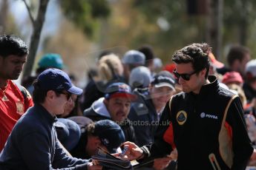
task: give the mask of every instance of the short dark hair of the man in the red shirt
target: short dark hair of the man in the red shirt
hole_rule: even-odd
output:
[[[27,44],[14,35],[0,35],[0,55],[4,58],[8,55],[28,55]]]

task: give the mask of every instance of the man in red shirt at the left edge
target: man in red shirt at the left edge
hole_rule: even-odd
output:
[[[19,78],[27,54],[22,39],[0,35],[0,152],[17,120],[33,106],[29,92],[12,81]]]

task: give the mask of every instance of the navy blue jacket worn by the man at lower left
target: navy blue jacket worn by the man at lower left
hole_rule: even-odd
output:
[[[0,154],[0,169],[87,169],[88,160],[70,157],[59,146],[55,122],[39,104],[28,109]]]

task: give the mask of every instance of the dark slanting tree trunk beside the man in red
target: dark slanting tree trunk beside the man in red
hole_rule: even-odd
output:
[[[39,2],[39,12],[37,14],[36,20],[33,22],[33,33],[30,38],[30,53],[27,57],[27,64],[24,67],[23,78],[30,75],[33,69],[33,63],[36,58],[36,52],[39,46],[40,35],[42,31],[43,24],[45,22],[45,13],[47,9],[47,4],[49,0],[40,0]]]

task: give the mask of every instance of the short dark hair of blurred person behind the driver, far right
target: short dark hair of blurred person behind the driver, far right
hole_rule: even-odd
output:
[[[247,47],[243,47],[240,45],[234,45],[229,50],[229,53],[226,57],[229,67],[232,66],[234,61],[239,60],[242,61],[246,54],[250,54],[250,50]]]

